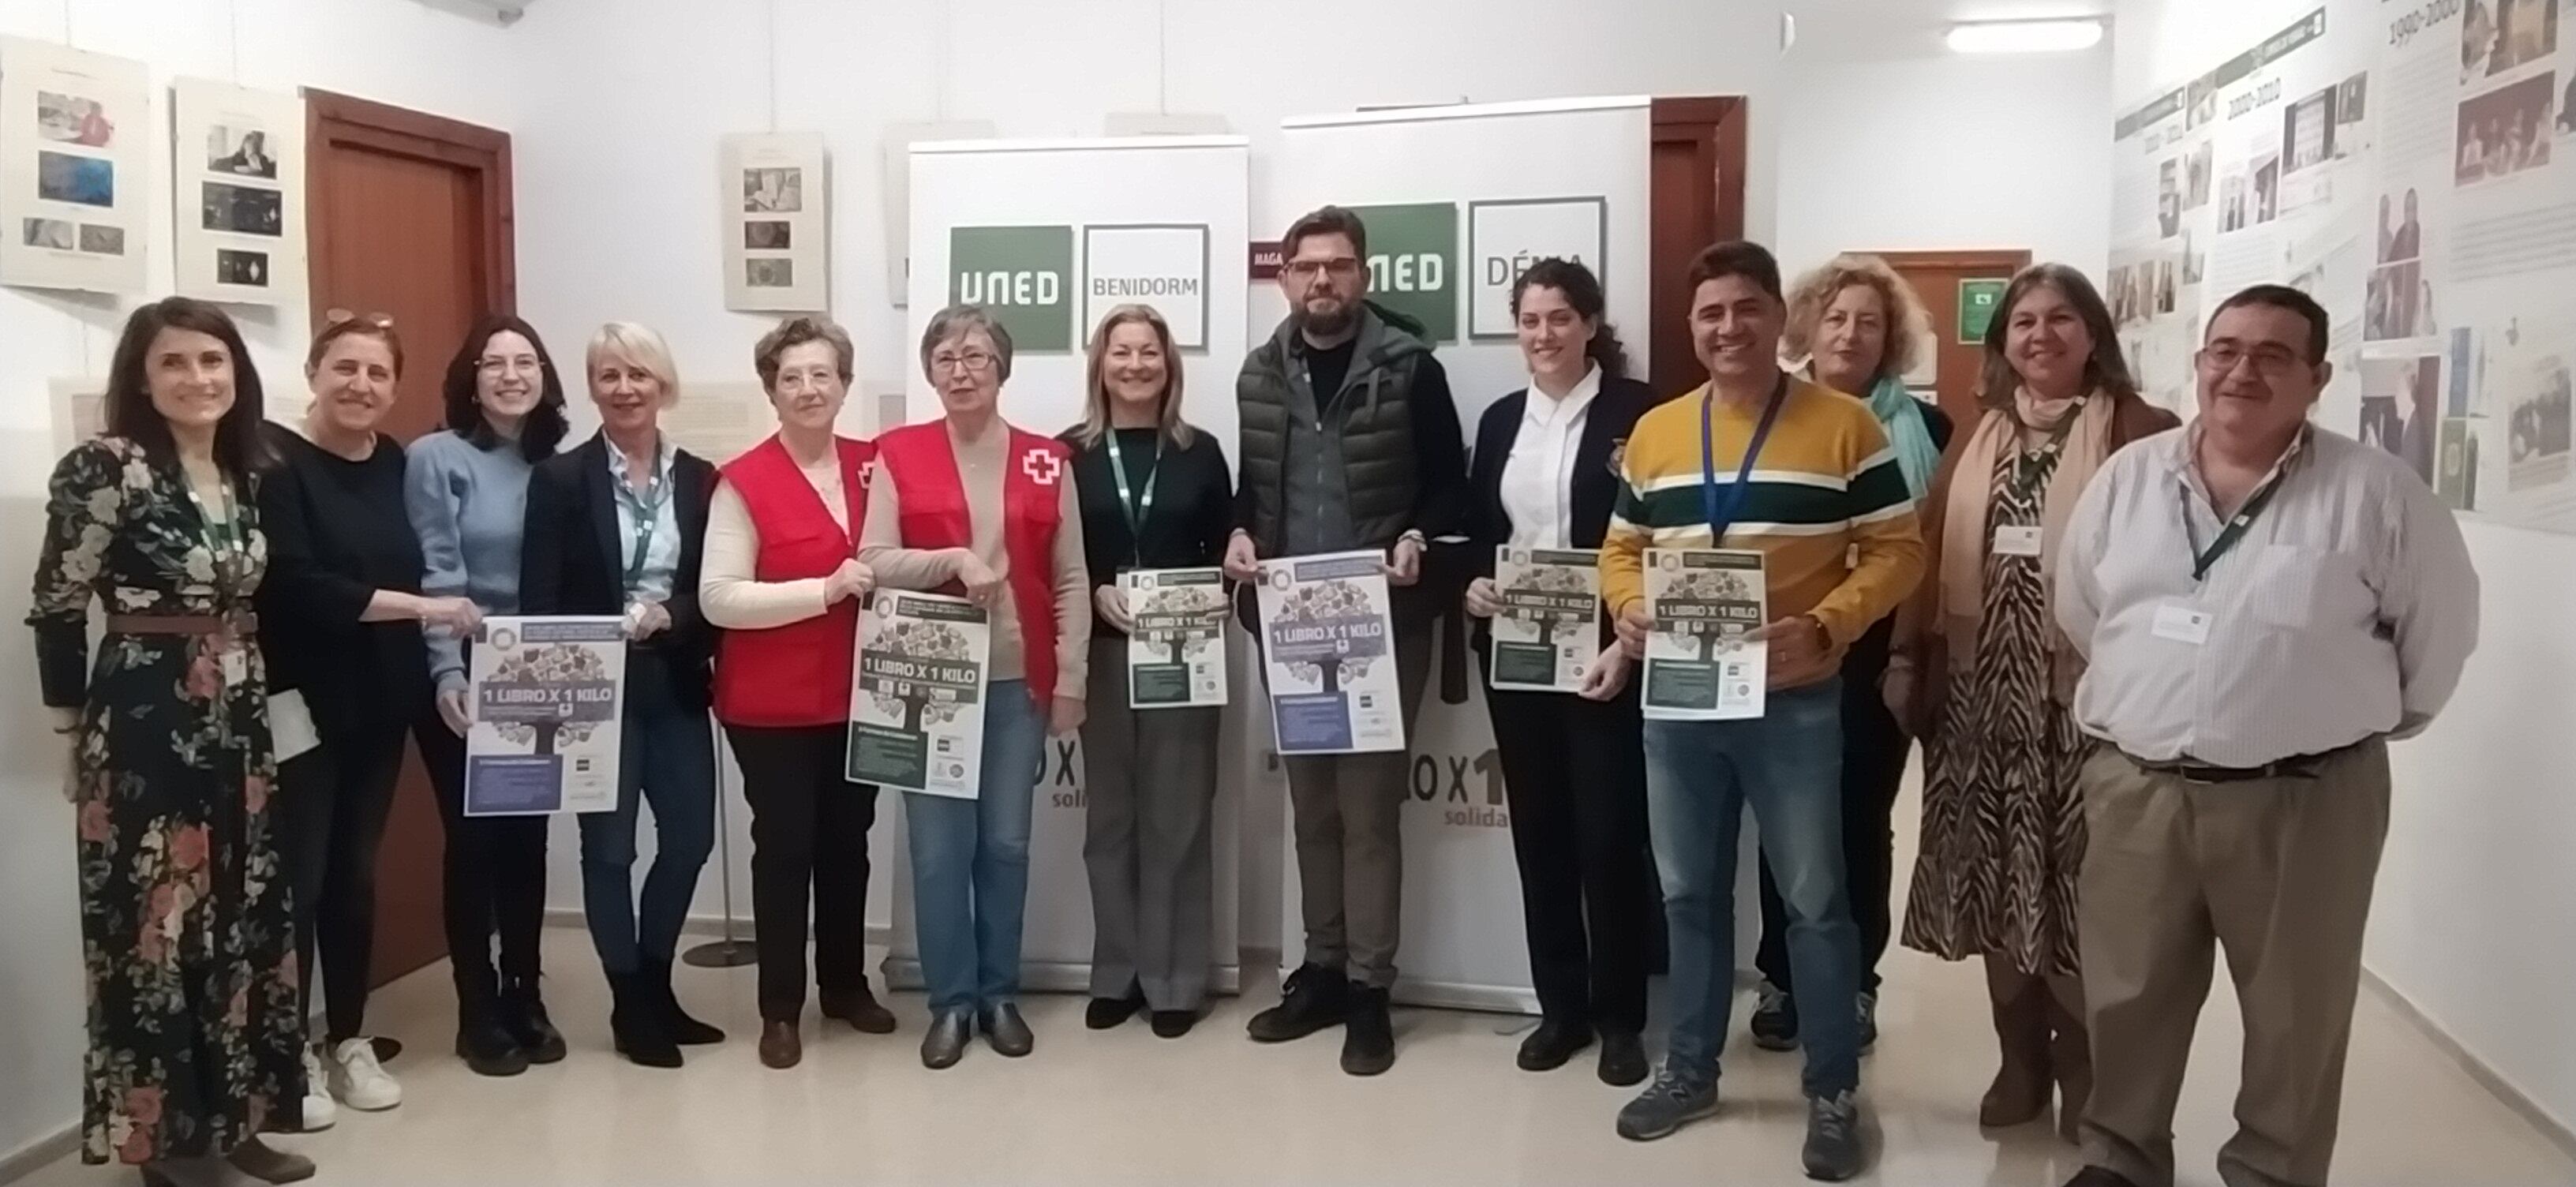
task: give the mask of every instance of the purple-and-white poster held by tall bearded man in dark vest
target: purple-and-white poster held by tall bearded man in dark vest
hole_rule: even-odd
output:
[[[1381,564],[1373,551],[1262,561],[1262,662],[1280,754],[1404,749]]]

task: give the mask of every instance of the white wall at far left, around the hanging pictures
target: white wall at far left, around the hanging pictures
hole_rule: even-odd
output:
[[[152,67],[152,288],[170,288],[170,111],[175,75],[252,88],[314,85],[479,124],[510,126],[515,106],[484,77],[510,77],[520,44],[492,26],[394,0],[0,0],[0,33],[118,54]],[[237,21],[237,23],[234,23]],[[232,28],[242,36],[234,44]],[[54,466],[49,376],[106,371],[134,301],[0,288],[0,1159],[77,1120],[82,986],[72,814],[59,744],[36,700],[26,574],[44,530]],[[304,312],[247,314],[242,330],[273,409],[301,409]]]

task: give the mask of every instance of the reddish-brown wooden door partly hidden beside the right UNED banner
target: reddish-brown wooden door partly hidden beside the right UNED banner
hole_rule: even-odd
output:
[[[1744,98],[1659,98],[1651,111],[1646,317],[1654,324],[1641,337],[1646,381],[1659,397],[1677,397],[1708,381],[1690,350],[1690,260],[1744,237]]]

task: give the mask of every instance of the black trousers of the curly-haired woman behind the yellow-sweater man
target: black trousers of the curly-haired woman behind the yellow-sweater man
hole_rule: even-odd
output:
[[[1896,726],[1878,677],[1888,669],[1888,641],[1896,618],[1880,618],[1842,657],[1842,870],[1852,899],[1852,924],[1860,927],[1860,989],[1878,991],[1878,958],[1888,955],[1888,896],[1896,875],[1896,790],[1906,780],[1906,749],[1914,739]],[[1780,986],[1788,971],[1788,909],[1762,863],[1762,948],[1754,968]]]

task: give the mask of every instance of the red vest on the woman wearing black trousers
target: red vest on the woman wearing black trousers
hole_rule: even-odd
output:
[[[850,530],[832,523],[814,484],[775,435],[724,466],[724,481],[742,494],[742,505],[752,510],[752,528],[760,530],[755,579],[832,577],[840,561],[858,556],[858,525],[868,512],[868,458],[876,448],[850,438],[835,443]],[[724,631],[716,646],[716,721],[768,729],[850,721],[858,597],[845,597],[801,623]]]

